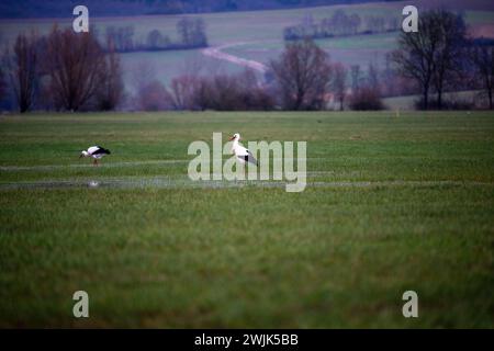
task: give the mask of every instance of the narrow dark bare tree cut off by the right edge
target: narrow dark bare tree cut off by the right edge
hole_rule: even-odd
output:
[[[476,45],[472,49],[472,63],[478,77],[482,80],[483,88],[487,93],[489,109],[493,109],[494,89],[494,47]]]

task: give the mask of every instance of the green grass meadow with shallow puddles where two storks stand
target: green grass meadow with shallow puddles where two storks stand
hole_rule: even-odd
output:
[[[190,181],[213,132],[306,140],[306,190]],[[1,116],[0,327],[492,328],[493,170],[487,112]]]

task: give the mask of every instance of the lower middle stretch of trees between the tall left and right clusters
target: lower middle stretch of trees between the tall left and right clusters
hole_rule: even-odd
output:
[[[269,64],[265,79],[251,70],[231,75],[186,73],[176,77],[167,88],[149,78],[137,83],[131,105],[144,111],[383,109],[379,84],[360,71],[355,79],[351,90],[349,70],[333,63],[325,50],[306,38],[288,43],[280,57]]]

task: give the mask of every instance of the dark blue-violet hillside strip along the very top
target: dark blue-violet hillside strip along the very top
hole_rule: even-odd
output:
[[[91,16],[115,16],[274,10],[359,2],[378,0],[2,0],[0,18],[66,18],[78,4],[87,5]]]

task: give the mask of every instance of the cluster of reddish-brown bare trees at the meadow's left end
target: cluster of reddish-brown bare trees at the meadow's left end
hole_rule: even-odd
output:
[[[55,26],[47,36],[20,34],[2,58],[19,111],[113,110],[123,95],[122,69],[111,41]]]

